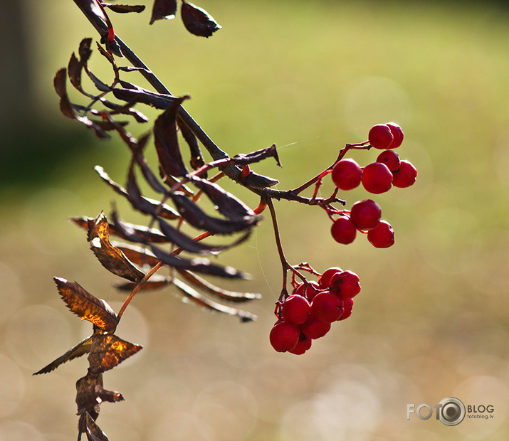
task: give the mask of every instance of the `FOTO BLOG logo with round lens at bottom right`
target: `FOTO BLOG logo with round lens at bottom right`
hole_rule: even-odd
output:
[[[458,425],[467,418],[481,418],[488,420],[493,418],[493,405],[467,405],[455,397],[448,397],[441,400],[439,404],[434,404],[436,420],[440,420],[445,425]],[[433,408],[429,404],[406,405],[406,419],[409,420],[412,413],[415,413],[421,420],[429,420],[433,415]]]

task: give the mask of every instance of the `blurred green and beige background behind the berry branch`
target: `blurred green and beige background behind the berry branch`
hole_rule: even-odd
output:
[[[131,2],[134,3],[134,2]],[[147,9],[152,2],[147,1]],[[90,333],[70,314],[52,277],[76,280],[118,309],[125,294],[66,220],[110,211],[115,195],[93,171],[125,181],[129,158],[58,110],[52,78],[97,38],[73,1],[21,1],[21,28],[4,14],[0,176],[0,440],[75,439],[80,358],[31,373]],[[360,275],[354,313],[303,356],[268,343],[280,268],[271,223],[221,262],[261,292],[258,322],[209,314],[171,290],[135,297],[117,334],[144,350],[105,373],[125,403],[105,403],[110,440],[506,440],[509,319],[509,14],[498,2],[201,0],[223,26],[208,40],[177,17],[111,13],[117,34],[219,146],[250,152],[278,188],[301,184],[372,124],[394,120],[399,154],[419,170],[407,189],[374,197],[397,243],[334,243],[318,208],[277,204],[288,260]],[[21,34],[26,39],[21,38]],[[24,42],[24,43],[23,43]],[[16,64],[16,53],[28,59]],[[23,68],[23,63],[26,68]],[[108,70],[97,51],[92,66]],[[5,78],[5,75],[6,78]],[[9,77],[10,75],[10,77]],[[132,81],[139,80],[136,73]],[[17,87],[16,84],[21,86]],[[147,114],[156,115],[150,110]],[[132,129],[136,133],[135,128]],[[145,128],[142,128],[145,130]],[[360,164],[377,152],[355,152]],[[234,186],[256,206],[256,198]],[[330,182],[322,188],[325,196]],[[344,195],[348,203],[361,190]],[[119,203],[129,221],[127,206]],[[267,215],[268,216],[268,215]],[[406,405],[455,396],[493,405],[490,420],[455,427],[406,419]]]

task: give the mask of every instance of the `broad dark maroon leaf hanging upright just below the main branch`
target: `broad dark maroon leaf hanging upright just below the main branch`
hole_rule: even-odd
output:
[[[167,176],[186,176],[187,169],[180,154],[177,138],[177,109],[185,97],[179,98],[154,123],[154,144],[159,166]]]

